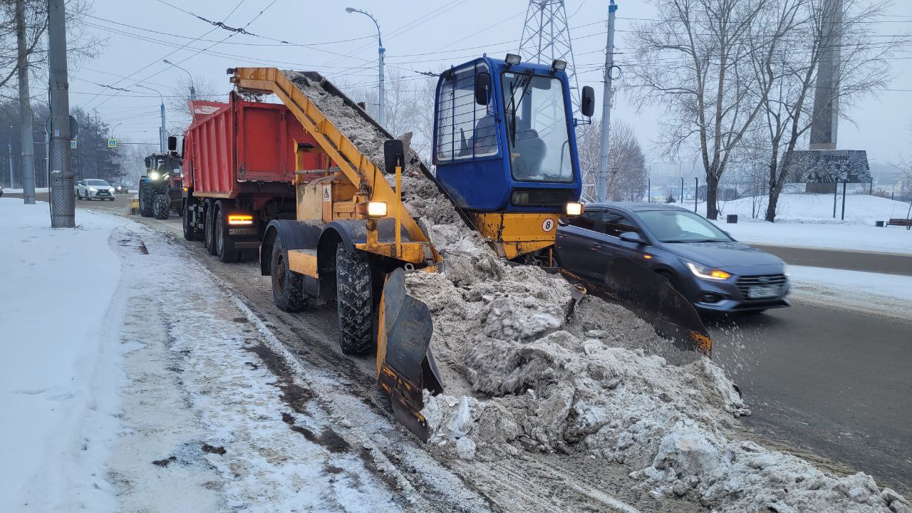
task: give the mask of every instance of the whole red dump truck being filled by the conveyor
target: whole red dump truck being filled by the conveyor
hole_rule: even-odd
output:
[[[266,225],[295,218],[295,170],[327,169],[281,103],[191,100],[183,140],[183,236],[223,262],[255,257]]]

